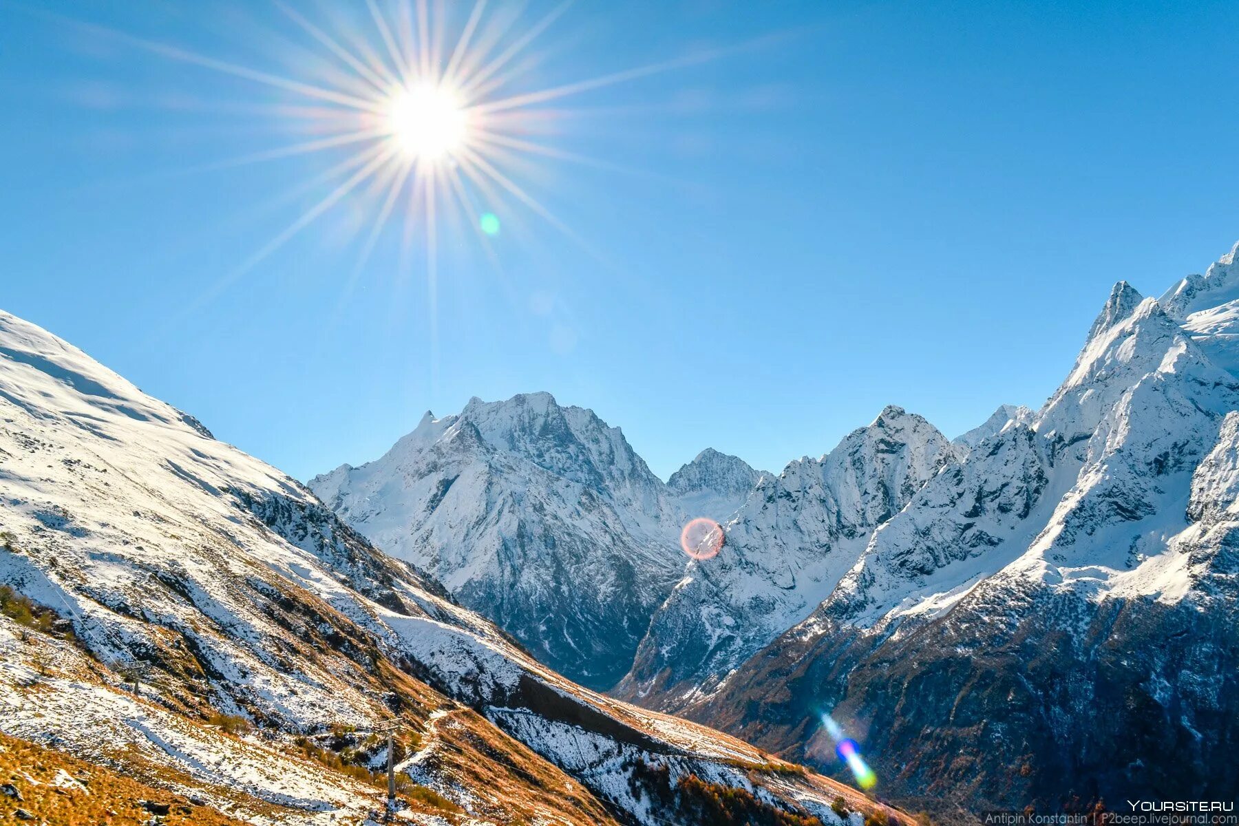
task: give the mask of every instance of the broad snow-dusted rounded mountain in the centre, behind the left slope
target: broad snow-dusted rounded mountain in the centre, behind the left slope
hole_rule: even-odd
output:
[[[382,458],[310,488],[548,665],[620,679],[684,566],[679,513],[617,427],[546,393],[426,414]]]

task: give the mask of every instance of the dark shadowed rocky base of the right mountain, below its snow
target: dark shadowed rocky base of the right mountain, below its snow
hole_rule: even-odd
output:
[[[1222,800],[1239,788],[1233,597],[1212,611],[992,598],[1032,609],[996,629],[996,606],[981,602],[876,648],[847,632],[772,646],[747,682],[779,690],[729,692],[694,716],[838,773],[814,736],[829,711],[865,743],[882,794],[912,809]]]

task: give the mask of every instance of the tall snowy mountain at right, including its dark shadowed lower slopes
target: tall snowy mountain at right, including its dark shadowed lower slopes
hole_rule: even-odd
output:
[[[1232,261],[1170,311],[1115,285],[1031,421],[934,476],[689,712],[809,757],[834,708],[888,789],[974,809],[1237,788],[1239,380],[1227,333],[1191,323],[1239,287]]]

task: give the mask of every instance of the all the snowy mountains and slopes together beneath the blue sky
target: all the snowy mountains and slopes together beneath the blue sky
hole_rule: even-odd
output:
[[[425,824],[882,810],[783,762],[846,779],[828,713],[950,822],[1229,799],[1235,254],[1116,284],[1040,410],[667,483],[539,393],[305,487],[0,313],[0,733],[264,822],[363,821],[393,717]]]

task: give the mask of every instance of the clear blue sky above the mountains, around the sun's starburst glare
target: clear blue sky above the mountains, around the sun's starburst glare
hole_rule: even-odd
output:
[[[258,1],[35,5],[290,78],[332,59]],[[1157,295],[1239,238],[1239,4],[581,0],[513,92],[747,47],[559,102],[544,142],[602,165],[513,175],[584,243],[483,199],[502,271],[445,235],[434,347],[398,230],[346,290],[373,197],[213,289],[339,155],[201,167],[301,140],[273,108],[304,100],[31,7],[0,2],[0,306],[300,478],[527,390],[664,477],[706,446],[777,471],[892,402],[955,435],[1040,405],[1115,280]]]

